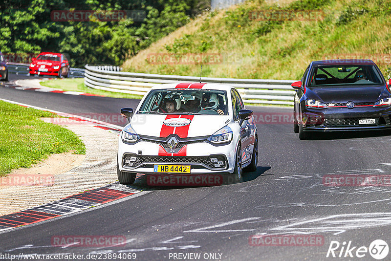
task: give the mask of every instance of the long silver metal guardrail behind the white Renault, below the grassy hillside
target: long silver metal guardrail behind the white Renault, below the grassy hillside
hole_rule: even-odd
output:
[[[144,95],[157,84],[199,82],[199,77],[123,72],[116,66],[85,66],[86,86],[113,92]],[[236,87],[245,103],[293,105],[293,80],[261,80],[202,77],[203,83]]]

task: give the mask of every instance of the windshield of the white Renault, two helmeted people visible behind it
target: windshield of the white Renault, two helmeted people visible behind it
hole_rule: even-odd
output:
[[[139,113],[227,115],[227,92],[208,89],[152,90]]]

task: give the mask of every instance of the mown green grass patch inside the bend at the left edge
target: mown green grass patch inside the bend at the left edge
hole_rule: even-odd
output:
[[[84,143],[75,133],[43,122],[41,117],[57,115],[0,101],[0,176],[13,169],[29,168],[49,154],[86,153]]]

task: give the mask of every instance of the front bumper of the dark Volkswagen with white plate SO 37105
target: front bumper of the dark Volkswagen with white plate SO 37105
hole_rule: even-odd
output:
[[[369,131],[391,129],[391,108],[360,107],[305,109],[304,131]],[[375,124],[359,124],[361,119],[375,119]]]

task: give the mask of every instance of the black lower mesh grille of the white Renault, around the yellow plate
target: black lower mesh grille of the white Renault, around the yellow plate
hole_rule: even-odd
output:
[[[136,156],[131,168],[153,168],[154,164],[178,164],[178,165],[191,165],[192,169],[207,168],[211,170],[223,170],[227,168],[227,160],[224,155],[210,155],[210,156],[157,156],[157,155],[135,155],[126,154],[124,158],[129,156]],[[217,158],[218,161],[222,161],[223,164],[216,167],[211,158]],[[123,162],[124,163],[124,162]],[[124,167],[130,168],[123,164]]]

